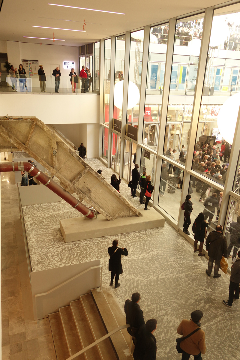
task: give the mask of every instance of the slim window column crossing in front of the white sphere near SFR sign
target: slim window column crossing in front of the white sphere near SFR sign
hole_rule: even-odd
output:
[[[128,77],[129,77],[129,62],[130,62],[130,41],[131,32],[126,32],[125,38],[125,55],[124,55],[124,80],[123,80],[123,108],[122,108],[122,136],[121,136],[121,152],[120,152],[120,171],[119,175],[123,177],[124,169],[124,136],[126,134],[126,121],[127,121],[127,94],[128,94]]]

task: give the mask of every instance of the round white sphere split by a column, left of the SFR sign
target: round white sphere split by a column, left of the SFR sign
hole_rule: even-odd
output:
[[[122,109],[123,102],[123,83],[124,81],[119,81],[114,85],[114,106],[118,109]],[[139,103],[140,93],[137,85],[132,81],[128,81],[128,96],[127,96],[127,109],[132,109]]]

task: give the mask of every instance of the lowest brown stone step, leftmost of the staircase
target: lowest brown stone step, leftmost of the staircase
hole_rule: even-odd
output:
[[[70,354],[68,351],[67,341],[62,327],[62,322],[59,312],[49,314],[49,322],[51,332],[53,334],[53,342],[56,351],[57,360],[66,360]]]

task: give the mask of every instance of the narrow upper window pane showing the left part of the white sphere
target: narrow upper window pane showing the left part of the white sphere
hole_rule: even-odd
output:
[[[126,35],[116,37],[113,118],[122,121]]]

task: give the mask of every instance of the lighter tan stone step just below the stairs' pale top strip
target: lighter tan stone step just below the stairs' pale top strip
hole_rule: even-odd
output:
[[[116,329],[118,327],[118,323],[114,318],[114,315],[104,296],[104,293],[102,291],[97,292],[96,289],[93,289],[91,290],[91,295],[94,299],[96,307],[98,308],[99,314],[105,328],[107,329],[107,332],[111,332],[112,330]],[[110,338],[119,360],[133,359],[131,354],[128,356],[124,354],[123,350],[126,350],[128,348],[129,343],[127,344],[121,331],[113,334]]]

